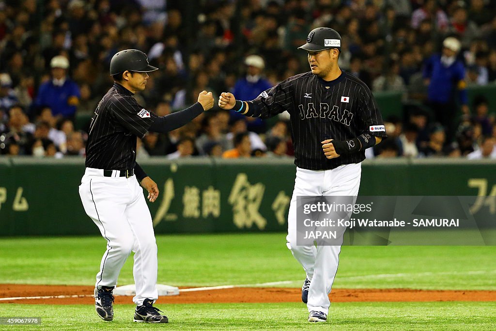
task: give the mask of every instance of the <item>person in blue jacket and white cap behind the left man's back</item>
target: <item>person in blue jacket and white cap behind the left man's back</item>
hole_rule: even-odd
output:
[[[50,67],[52,79],[41,84],[35,106],[50,107],[56,117],[73,118],[81,94],[77,84],[67,76],[69,61],[58,55],[50,61]]]

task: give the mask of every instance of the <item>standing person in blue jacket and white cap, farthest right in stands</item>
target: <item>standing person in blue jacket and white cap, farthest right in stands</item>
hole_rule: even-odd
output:
[[[435,120],[446,128],[447,141],[454,134],[456,114],[455,95],[460,99],[462,112],[469,113],[467,106],[467,91],[465,90],[465,68],[456,59],[460,51],[460,42],[453,37],[444,39],[442,54],[435,54],[426,62],[424,78],[429,85],[428,102],[434,111]]]

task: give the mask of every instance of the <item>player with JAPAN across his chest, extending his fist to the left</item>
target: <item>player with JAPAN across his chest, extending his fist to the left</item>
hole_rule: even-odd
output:
[[[386,136],[380,112],[367,85],[341,70],[341,36],[313,29],[299,49],[308,52],[310,71],[290,77],[251,101],[222,93],[219,107],[251,117],[291,115],[295,188],[289,208],[287,246],[305,269],[302,300],[309,322],[325,322],[341,246],[297,246],[298,196],[357,196],[365,149]]]

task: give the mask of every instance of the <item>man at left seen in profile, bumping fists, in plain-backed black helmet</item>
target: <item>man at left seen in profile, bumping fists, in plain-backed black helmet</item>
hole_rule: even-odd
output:
[[[114,86],[98,104],[91,119],[86,146],[86,170],[79,186],[84,210],[107,240],[100,271],[96,276],[95,309],[105,321],[114,318],[112,291],[127,257],[133,251],[136,284],[134,322],[167,323],[153,307],[157,293],[157,245],[152,218],[143,191],[154,202],[157,184],[136,163],[136,137],[147,131],[169,132],[182,127],[213,107],[211,92],[203,91],[191,107],[159,117],[133,98],[145,89],[150,66],[138,50],[124,50],[110,63]]]

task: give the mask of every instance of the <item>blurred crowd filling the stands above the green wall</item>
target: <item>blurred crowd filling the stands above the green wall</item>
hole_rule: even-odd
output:
[[[368,158],[496,158],[495,105],[466,91],[496,82],[496,1],[190,2],[0,0],[0,155],[84,157],[88,125],[75,119],[89,119],[112,86],[119,50],[142,50],[159,67],[135,97],[164,116],[202,90],[251,100],[308,71],[297,47],[327,26],[341,33],[342,69],[374,93],[403,95],[403,112],[384,119],[389,138]],[[215,107],[169,134],[148,132],[137,158],[289,158],[288,116]]]

